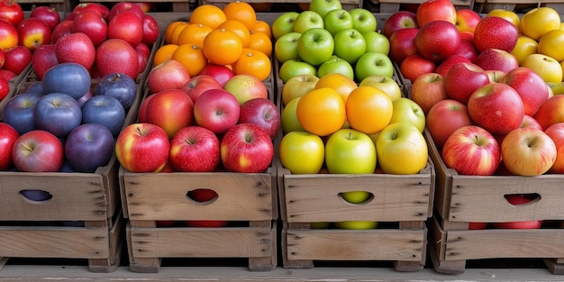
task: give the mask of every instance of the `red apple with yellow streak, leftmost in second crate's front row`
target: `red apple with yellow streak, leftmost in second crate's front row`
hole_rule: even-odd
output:
[[[115,155],[131,172],[159,172],[168,160],[170,143],[159,125],[132,123],[123,128],[115,141]]]

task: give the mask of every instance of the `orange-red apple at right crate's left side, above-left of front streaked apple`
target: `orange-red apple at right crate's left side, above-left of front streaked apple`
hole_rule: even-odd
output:
[[[473,123],[468,114],[468,107],[451,99],[437,102],[425,118],[425,126],[439,150],[452,132],[471,124]]]

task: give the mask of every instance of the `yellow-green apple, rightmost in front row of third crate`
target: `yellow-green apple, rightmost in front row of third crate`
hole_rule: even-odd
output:
[[[376,150],[378,165],[388,174],[417,174],[429,157],[423,134],[407,122],[388,124],[378,134]]]

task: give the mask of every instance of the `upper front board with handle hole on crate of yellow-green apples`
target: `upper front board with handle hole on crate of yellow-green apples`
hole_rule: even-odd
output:
[[[425,221],[431,216],[430,174],[285,174],[283,177],[288,223]],[[374,197],[368,203],[354,205],[339,196],[350,191],[368,191]]]

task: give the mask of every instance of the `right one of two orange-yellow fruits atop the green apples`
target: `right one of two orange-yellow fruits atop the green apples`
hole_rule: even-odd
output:
[[[350,128],[374,134],[390,123],[394,105],[377,87],[359,86],[350,92],[345,107]]]

